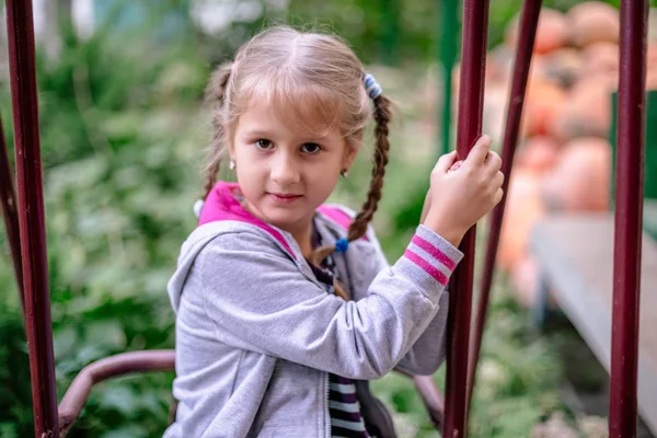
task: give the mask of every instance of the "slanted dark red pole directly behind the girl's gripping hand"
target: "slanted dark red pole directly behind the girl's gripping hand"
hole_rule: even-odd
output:
[[[531,66],[533,45],[539,24],[539,14],[541,12],[542,0],[527,0],[522,8],[520,19],[520,30],[518,37],[518,47],[516,48],[516,61],[514,66],[514,81],[511,83],[511,94],[507,106],[507,120],[504,134],[504,146],[502,149],[502,172],[505,175],[503,184],[504,196],[502,201],[493,210],[491,219],[491,230],[488,234],[488,244],[486,247],[486,260],[482,274],[480,299],[477,302],[477,312],[474,323],[474,334],[470,349],[470,361],[468,364],[468,401],[472,400],[474,379],[476,376],[476,365],[479,362],[482,337],[486,323],[486,312],[488,311],[488,298],[493,285],[493,274],[495,270],[495,257],[497,246],[499,245],[499,233],[504,210],[506,206],[507,191],[511,178],[511,168],[516,146],[518,143],[518,134],[520,131],[520,118],[522,116],[522,106],[525,104],[525,91],[527,89],[527,79]]]

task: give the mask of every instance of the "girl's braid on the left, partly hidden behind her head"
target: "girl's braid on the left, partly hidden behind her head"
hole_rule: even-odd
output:
[[[206,185],[204,199],[207,198],[210,191],[215,186],[215,178],[221,165],[221,152],[223,151],[226,132],[223,130],[226,122],[226,90],[230,74],[232,72],[232,62],[221,65],[210,78],[210,82],[206,89],[207,99],[214,102],[212,112],[212,145],[210,147],[210,162],[206,168]]]

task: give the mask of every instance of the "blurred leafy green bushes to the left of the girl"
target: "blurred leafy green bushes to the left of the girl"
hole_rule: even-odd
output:
[[[192,204],[206,119],[197,117],[209,66],[181,42],[104,32],[72,36],[55,60],[38,56],[39,116],[51,313],[59,396],[89,362],[173,347],[165,293]],[[8,112],[9,87],[0,88]],[[12,131],[4,117],[8,140]],[[4,246],[4,235],[0,234]],[[9,258],[5,258],[9,261]],[[11,265],[0,265],[12,285]],[[0,436],[32,433],[30,374],[13,287],[0,291]],[[94,388],[71,437],[157,437],[172,373]]]

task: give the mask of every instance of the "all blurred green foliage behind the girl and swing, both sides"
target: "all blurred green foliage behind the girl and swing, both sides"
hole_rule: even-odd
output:
[[[437,47],[437,4],[292,0],[286,14],[268,14],[267,8],[264,14],[268,22],[328,25],[366,61],[399,57],[422,64],[433,60]],[[545,4],[567,8],[557,0]],[[492,44],[499,41],[519,5],[519,0],[491,2]],[[140,26],[120,32],[101,28],[85,42],[66,32],[56,59],[39,54],[59,397],[93,360],[126,350],[173,347],[174,315],[165,286],[180,245],[194,227],[192,204],[203,186],[200,170],[210,137],[200,97],[210,66],[230,56],[261,26],[261,20],[234,23],[214,38],[188,23],[175,38]],[[382,82],[397,83],[387,92],[406,102],[417,76],[408,68],[402,73],[394,80],[377,76]],[[11,146],[8,90],[2,83],[0,108]],[[390,260],[401,255],[417,223],[437,154],[434,140],[418,134],[416,119],[423,115],[418,110],[411,114],[413,107],[424,106],[414,102],[402,112],[407,125],[395,129],[384,198],[376,218]],[[369,161],[367,153],[360,154],[359,165],[339,186],[338,200],[357,208],[365,199]],[[0,246],[7,249],[3,231],[0,228]],[[9,285],[0,290],[0,436],[24,437],[32,435],[30,373],[10,263],[0,264],[0,284]],[[526,315],[502,285],[494,292],[484,341],[471,415],[473,437],[528,436],[533,424],[562,408],[555,389],[562,370],[552,342],[525,334]],[[97,385],[70,436],[161,436],[172,378],[172,373],[140,374]],[[442,374],[437,379],[441,381]],[[374,387],[394,408],[397,427],[407,431],[404,436],[436,436],[405,378],[391,376]]]

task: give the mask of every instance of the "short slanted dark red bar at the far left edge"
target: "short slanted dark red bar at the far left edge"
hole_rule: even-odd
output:
[[[19,286],[19,296],[23,314],[25,314],[25,297],[23,293],[23,267],[21,263],[21,235],[19,231],[19,214],[16,211],[16,194],[13,189],[13,172],[9,163],[9,153],[2,129],[2,117],[0,117],[0,205],[7,229],[7,239],[11,249],[11,258],[14,265],[14,274]]]

